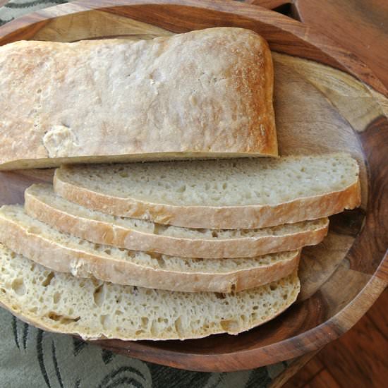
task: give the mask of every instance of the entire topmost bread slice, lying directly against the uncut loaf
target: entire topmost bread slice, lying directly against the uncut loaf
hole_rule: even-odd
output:
[[[348,154],[61,166],[54,190],[99,212],[206,229],[291,224],[360,205]]]

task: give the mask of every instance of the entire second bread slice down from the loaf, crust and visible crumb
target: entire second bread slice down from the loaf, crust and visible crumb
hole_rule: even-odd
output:
[[[51,185],[25,190],[25,212],[45,224],[93,243],[180,257],[255,257],[320,243],[329,220],[317,219],[265,229],[188,229],[114,217],[56,195]]]

